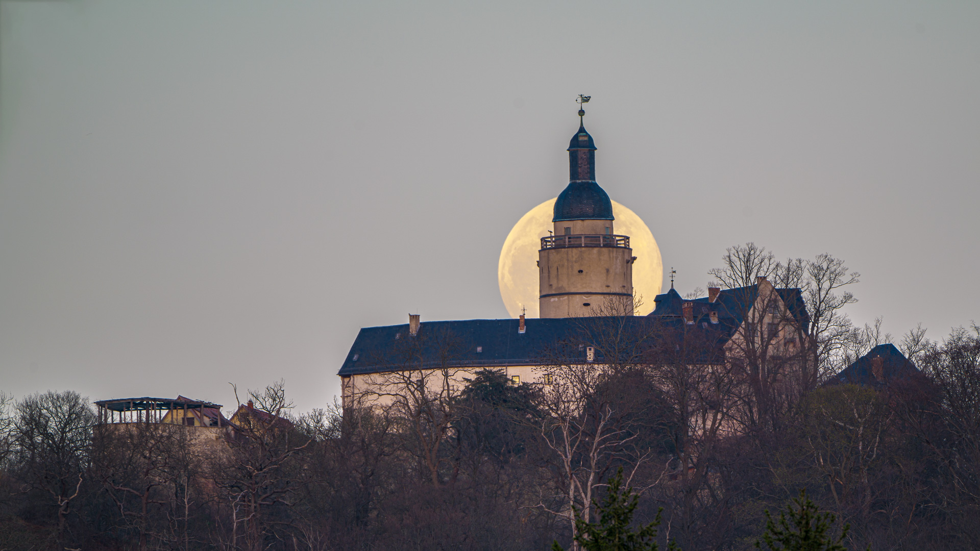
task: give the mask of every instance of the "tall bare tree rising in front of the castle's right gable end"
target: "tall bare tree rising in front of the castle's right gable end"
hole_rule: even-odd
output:
[[[737,293],[727,308],[745,322],[734,346],[752,384],[747,419],[752,426],[771,425],[841,368],[842,355],[856,334],[842,309],[857,302],[841,288],[857,283],[859,275],[826,253],[813,260],[777,262],[751,242],[727,249],[722,263],[709,275]],[[760,281],[769,280],[775,292],[762,294]]]

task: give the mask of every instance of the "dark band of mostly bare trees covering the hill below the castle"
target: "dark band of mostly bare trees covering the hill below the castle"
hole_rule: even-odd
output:
[[[840,314],[857,275],[754,246],[726,263],[729,288],[803,289],[796,346],[761,322],[719,347],[700,325],[637,332],[610,311],[546,351],[545,384],[466,374],[453,335],[421,331],[345,407],[293,415],[273,383],[232,429],[96,425],[73,392],[5,400],[0,549],[577,549],[619,472],[662,548],[754,549],[802,489],[850,549],[980,548],[980,327],[910,331],[919,372],[831,384],[890,340]],[[564,361],[585,346],[601,362]],[[433,349],[442,365],[417,369]]]

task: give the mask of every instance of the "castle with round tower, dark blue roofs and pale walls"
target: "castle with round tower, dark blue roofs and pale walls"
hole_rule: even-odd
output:
[[[780,354],[800,350],[809,325],[800,289],[776,289],[764,277],[748,287],[711,288],[695,300],[682,299],[671,285],[657,296],[654,312],[633,315],[637,257],[629,236],[615,233],[583,116],[579,110],[568,145],[569,181],[555,202],[554,231],[541,238],[538,251],[540,318],[422,323],[410,315],[407,325],[364,327],[337,374],[345,406],[451,394],[481,369],[501,371],[514,383],[551,384],[548,366],[613,361],[589,334],[604,319],[652,347],[694,335],[711,349],[700,357],[712,363],[756,344]]]

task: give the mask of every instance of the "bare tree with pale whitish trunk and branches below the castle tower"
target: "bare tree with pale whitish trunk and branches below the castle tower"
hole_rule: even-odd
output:
[[[654,413],[644,367],[658,325],[631,319],[631,308],[607,302],[541,358],[539,371],[548,382],[537,404],[540,416],[527,421],[537,426],[553,481],[542,486],[537,507],[564,518],[572,538],[575,511],[591,519],[593,499],[611,470],[628,465],[631,478],[654,454],[643,437]]]

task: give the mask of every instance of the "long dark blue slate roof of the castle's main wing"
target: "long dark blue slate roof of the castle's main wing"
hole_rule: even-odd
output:
[[[646,316],[622,318],[533,318],[525,321],[525,331],[517,332],[517,320],[459,320],[450,322],[422,322],[418,329],[421,350],[414,351],[412,361],[405,353],[409,325],[364,327],[358,333],[347,358],[337,375],[352,376],[398,371],[401,369],[431,369],[442,367],[480,368],[542,365],[542,359],[563,354],[565,361],[586,360],[586,350],[568,346],[570,341],[587,338],[589,330],[596,330],[606,321],[623,323],[624,331],[634,334],[650,334],[658,326],[678,327],[679,320],[663,320]],[[689,329],[706,332],[714,338],[717,325],[688,326]],[[440,359],[439,337],[452,335],[453,352],[449,360]],[[627,333],[628,334],[628,333]],[[666,333],[663,333],[666,334]],[[477,347],[479,352],[477,352]],[[596,350],[596,361],[602,361],[601,350]],[[410,368],[411,366],[411,368]]]

